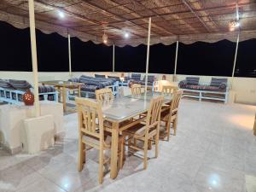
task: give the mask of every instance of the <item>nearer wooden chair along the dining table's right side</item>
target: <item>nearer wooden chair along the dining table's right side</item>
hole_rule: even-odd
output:
[[[148,109],[146,124],[140,123],[131,126],[127,131],[123,131],[123,143],[125,143],[125,137],[128,136],[129,148],[135,151],[143,151],[143,168],[148,166],[148,144],[153,141],[155,143],[155,157],[159,154],[159,134],[160,134],[160,110],[164,97],[159,96],[154,98],[150,102],[150,108]],[[133,140],[133,143],[131,143]],[[143,141],[143,148],[137,146],[137,140]],[[125,144],[123,144],[123,147]]]

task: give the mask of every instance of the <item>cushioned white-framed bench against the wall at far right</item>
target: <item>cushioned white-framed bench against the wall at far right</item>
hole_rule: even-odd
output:
[[[227,82],[227,79],[212,78],[210,84],[199,84],[199,78],[187,77],[178,86],[183,90],[183,96],[226,103],[229,90]]]

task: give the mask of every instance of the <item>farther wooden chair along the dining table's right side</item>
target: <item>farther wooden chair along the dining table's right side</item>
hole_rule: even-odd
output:
[[[177,110],[178,110],[178,105],[182,95],[183,95],[183,90],[174,91],[170,107],[162,108],[161,110],[160,120],[166,122],[167,141],[169,141],[170,139],[171,124],[173,125],[173,130],[174,130],[173,135],[176,136]]]

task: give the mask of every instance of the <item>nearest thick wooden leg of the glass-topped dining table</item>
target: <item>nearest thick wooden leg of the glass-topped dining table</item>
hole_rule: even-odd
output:
[[[110,177],[115,178],[118,174],[118,148],[119,148],[119,123],[112,124],[112,142],[111,142],[111,165]]]

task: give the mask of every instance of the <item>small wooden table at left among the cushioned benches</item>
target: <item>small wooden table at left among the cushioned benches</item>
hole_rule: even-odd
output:
[[[78,82],[60,81],[60,80],[42,81],[40,83],[55,86],[57,90],[60,90],[60,93],[62,95],[64,112],[67,111],[67,90],[78,90],[78,96],[81,96],[81,86],[83,85],[82,83],[78,83]]]

